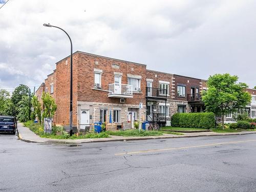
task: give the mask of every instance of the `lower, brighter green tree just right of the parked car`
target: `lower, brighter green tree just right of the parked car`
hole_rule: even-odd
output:
[[[24,95],[22,100],[18,102],[18,115],[17,119],[21,122],[29,120],[29,96]]]

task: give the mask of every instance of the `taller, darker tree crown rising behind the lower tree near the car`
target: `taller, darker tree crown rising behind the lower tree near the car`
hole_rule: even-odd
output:
[[[15,116],[17,116],[19,108],[18,102],[22,100],[23,96],[29,95],[29,90],[26,86],[18,86],[12,93],[11,100],[15,106]],[[29,98],[28,98],[29,99]]]

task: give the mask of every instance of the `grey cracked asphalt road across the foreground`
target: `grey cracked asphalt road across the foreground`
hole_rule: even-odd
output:
[[[256,134],[37,144],[0,134],[0,191],[256,191]]]

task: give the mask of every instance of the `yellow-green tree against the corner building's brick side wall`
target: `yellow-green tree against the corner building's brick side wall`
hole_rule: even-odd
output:
[[[44,105],[42,118],[53,117],[57,110],[57,105],[49,93],[42,93],[42,104]]]

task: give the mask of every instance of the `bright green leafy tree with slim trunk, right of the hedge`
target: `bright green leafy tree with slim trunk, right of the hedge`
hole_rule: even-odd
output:
[[[202,100],[207,112],[213,112],[222,118],[224,129],[224,116],[244,108],[251,99],[246,83],[237,82],[238,76],[230,74],[215,74],[207,80],[208,90],[203,93]]]

